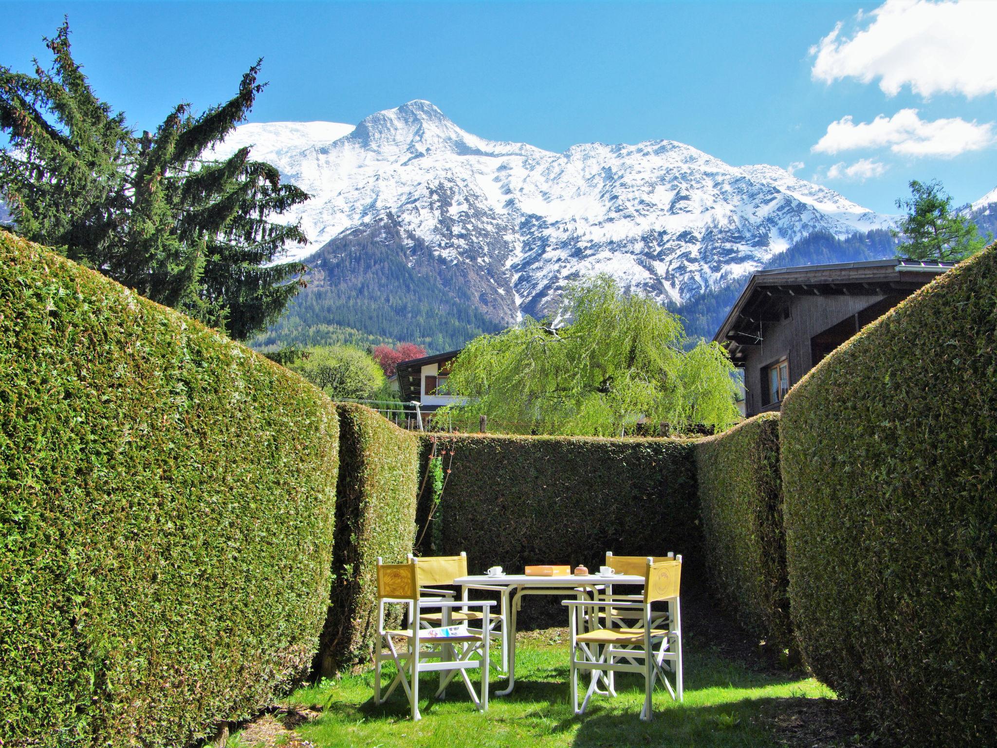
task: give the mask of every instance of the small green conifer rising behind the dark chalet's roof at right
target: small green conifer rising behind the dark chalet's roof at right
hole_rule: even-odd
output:
[[[913,180],[909,187],[911,196],[896,201],[907,211],[894,231],[906,239],[896,247],[896,256],[958,262],[983,248],[986,242],[976,225],[952,209],[952,197],[940,182]]]

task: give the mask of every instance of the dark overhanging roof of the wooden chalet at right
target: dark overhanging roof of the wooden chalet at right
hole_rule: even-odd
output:
[[[748,281],[713,339],[732,356],[758,342],[763,322],[781,321],[788,299],[802,295],[911,293],[952,267],[950,262],[875,259],[759,270]]]

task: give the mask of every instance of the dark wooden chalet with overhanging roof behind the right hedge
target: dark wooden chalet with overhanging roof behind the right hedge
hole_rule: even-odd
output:
[[[744,370],[745,415],[779,410],[832,350],[951,266],[880,259],[756,272],[713,338]]]

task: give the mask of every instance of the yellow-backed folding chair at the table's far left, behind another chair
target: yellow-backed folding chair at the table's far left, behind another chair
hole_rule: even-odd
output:
[[[437,599],[453,599],[456,590],[440,589],[432,585],[456,586],[454,579],[459,576],[468,575],[468,555],[461,552],[460,556],[423,556],[415,557],[409,554],[409,562],[416,564],[416,576],[419,579],[419,592],[422,595],[423,604],[432,606]],[[464,587],[462,599],[468,599],[468,590],[479,589],[498,592],[498,615],[489,616],[490,625],[482,628],[484,613],[479,610],[469,610],[466,607],[461,609],[444,609],[440,612],[424,613],[422,615],[422,625],[426,628],[432,626],[446,626],[451,623],[468,623],[469,629],[475,632],[488,630],[489,635],[502,641],[502,633],[505,630],[505,595],[502,594],[504,587],[489,584],[468,584]],[[505,647],[501,647],[501,659],[498,663],[493,662],[499,674],[508,672],[508,653]]]

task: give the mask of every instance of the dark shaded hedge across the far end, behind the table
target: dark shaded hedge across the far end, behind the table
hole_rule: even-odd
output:
[[[497,563],[598,568],[606,551],[674,551],[691,564],[683,583],[695,583],[702,552],[693,442],[468,435],[450,443],[443,551],[466,551],[473,573]]]

